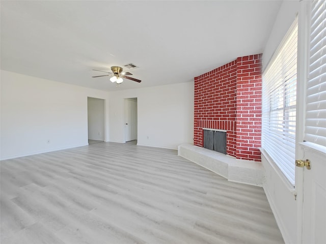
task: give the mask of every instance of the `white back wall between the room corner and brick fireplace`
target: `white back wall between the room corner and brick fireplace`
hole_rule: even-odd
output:
[[[193,143],[194,83],[111,92],[110,141],[124,142],[124,99],[138,101],[138,145],[177,149]]]

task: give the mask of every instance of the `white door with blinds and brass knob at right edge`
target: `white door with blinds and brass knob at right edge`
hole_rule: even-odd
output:
[[[300,42],[303,45],[298,46],[298,53],[301,52],[302,54],[301,63],[303,67],[300,70],[304,82],[299,89],[306,90],[306,94],[302,95],[304,95],[305,107],[308,112],[305,119],[304,116],[301,116],[298,120],[301,122],[299,124],[309,126],[299,128],[299,132],[305,131],[308,141],[316,139],[319,143],[321,143],[321,140],[317,138],[325,136],[325,14],[326,2],[301,1],[301,19],[303,22]],[[310,45],[305,45],[305,42],[307,42],[306,44],[310,43]],[[309,71],[304,67],[310,67]],[[309,77],[307,81],[305,77]],[[305,86],[307,87],[304,88]],[[303,115],[302,113],[305,113],[306,109],[298,108],[297,112]],[[304,123],[304,120],[306,120],[306,123]],[[303,138],[301,138],[301,141],[303,141]],[[324,146],[311,142],[298,143],[297,148],[297,159],[308,159],[311,164],[310,170],[304,167],[295,172],[298,171],[298,176],[300,176],[298,177],[300,180],[298,182],[297,196],[300,196],[298,224],[301,228],[298,228],[298,238],[301,239],[301,243],[324,244],[326,243],[326,149]],[[295,180],[297,180],[297,177]],[[297,181],[295,182],[297,187],[296,183]]]

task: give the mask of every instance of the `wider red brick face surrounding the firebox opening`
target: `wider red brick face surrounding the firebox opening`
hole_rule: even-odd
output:
[[[227,154],[236,156],[236,60],[195,77],[195,139],[203,146],[203,129],[227,130]]]

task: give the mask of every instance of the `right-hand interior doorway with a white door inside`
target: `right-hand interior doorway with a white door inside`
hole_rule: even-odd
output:
[[[124,100],[124,141],[137,141],[137,98]]]

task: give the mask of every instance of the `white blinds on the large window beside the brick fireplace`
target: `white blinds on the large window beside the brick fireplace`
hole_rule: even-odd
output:
[[[297,19],[263,73],[262,148],[294,185]]]

